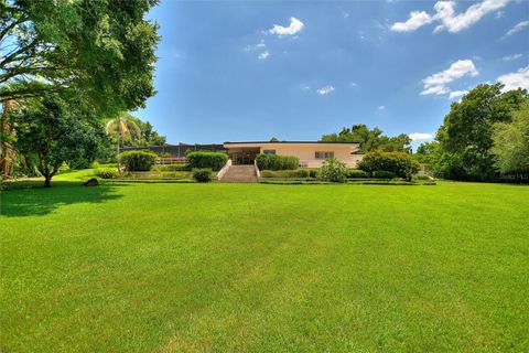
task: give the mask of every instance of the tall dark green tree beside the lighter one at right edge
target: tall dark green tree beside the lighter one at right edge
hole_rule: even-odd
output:
[[[510,122],[512,113],[528,99],[527,90],[503,93],[503,85],[478,85],[450,113],[436,133],[444,153],[447,178],[462,180],[495,180],[497,169],[490,152],[493,126]]]

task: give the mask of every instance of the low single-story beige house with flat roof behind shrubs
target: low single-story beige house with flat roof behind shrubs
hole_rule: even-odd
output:
[[[294,156],[300,159],[300,167],[320,168],[327,158],[336,158],[355,168],[361,160],[358,154],[359,143],[319,142],[319,141],[252,141],[224,142],[224,149],[233,164],[252,164],[258,153]]]

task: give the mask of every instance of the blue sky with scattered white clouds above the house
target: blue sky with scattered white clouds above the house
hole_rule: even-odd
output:
[[[529,1],[162,1],[149,18],[158,95],[138,116],[170,143],[354,124],[428,138],[479,83],[529,88]]]

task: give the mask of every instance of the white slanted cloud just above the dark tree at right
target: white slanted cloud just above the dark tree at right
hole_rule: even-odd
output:
[[[424,78],[421,95],[447,94],[451,90],[446,87],[447,84],[464,76],[476,76],[478,72],[472,60],[458,60],[445,71]]]

